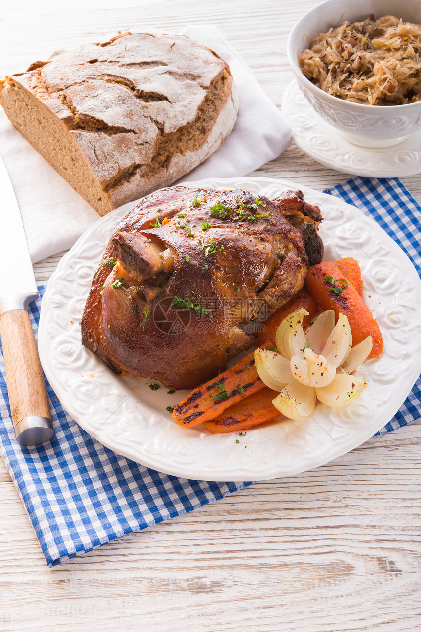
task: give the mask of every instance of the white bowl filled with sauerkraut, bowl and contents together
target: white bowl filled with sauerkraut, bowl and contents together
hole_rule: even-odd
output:
[[[357,145],[421,129],[421,0],[328,0],[306,13],[288,58],[306,99]]]

